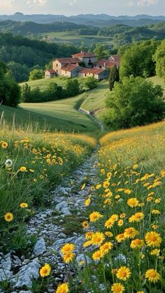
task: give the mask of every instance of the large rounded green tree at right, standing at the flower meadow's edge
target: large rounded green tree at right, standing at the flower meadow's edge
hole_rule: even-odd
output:
[[[135,127],[162,120],[165,116],[162,87],[141,77],[123,78],[108,94],[104,120],[113,129]]]

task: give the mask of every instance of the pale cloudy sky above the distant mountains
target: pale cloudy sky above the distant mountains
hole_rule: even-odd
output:
[[[0,0],[0,15],[13,14],[164,15],[165,0]]]

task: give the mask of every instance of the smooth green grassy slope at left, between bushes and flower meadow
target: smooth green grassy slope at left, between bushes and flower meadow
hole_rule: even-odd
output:
[[[81,102],[80,98],[82,97],[48,103],[22,103],[19,108],[1,106],[0,115],[3,112],[3,116],[10,122],[13,122],[15,115],[15,125],[20,127],[33,124],[33,127],[47,128],[50,131],[94,131],[98,125],[89,116],[76,110]]]

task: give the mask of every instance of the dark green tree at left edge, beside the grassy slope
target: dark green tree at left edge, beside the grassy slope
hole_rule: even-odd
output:
[[[11,107],[16,107],[20,102],[20,86],[11,78],[3,62],[0,62],[0,101]]]

